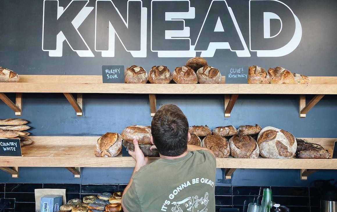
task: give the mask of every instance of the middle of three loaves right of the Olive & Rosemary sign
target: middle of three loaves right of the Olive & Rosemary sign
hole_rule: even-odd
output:
[[[270,84],[294,84],[295,79],[292,72],[282,67],[269,68],[268,74]]]

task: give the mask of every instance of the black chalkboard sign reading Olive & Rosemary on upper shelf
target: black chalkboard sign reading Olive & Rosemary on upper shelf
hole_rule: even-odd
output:
[[[248,66],[226,65],[224,75],[226,84],[247,84]]]

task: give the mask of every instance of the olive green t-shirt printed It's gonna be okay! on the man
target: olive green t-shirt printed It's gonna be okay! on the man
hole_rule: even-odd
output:
[[[158,159],[134,173],[123,205],[130,212],[214,212],[215,172],[207,150]]]

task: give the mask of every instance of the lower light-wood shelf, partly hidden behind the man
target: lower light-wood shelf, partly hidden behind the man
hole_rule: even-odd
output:
[[[29,136],[34,144],[22,147],[23,157],[0,156],[4,167],[134,167],[131,157],[95,157],[99,137]],[[336,138],[307,138],[332,154]],[[149,158],[155,161],[158,158]],[[231,169],[337,169],[337,159],[217,158],[217,168]]]

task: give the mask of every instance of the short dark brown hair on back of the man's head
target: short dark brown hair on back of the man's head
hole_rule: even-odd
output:
[[[188,121],[177,105],[165,104],[156,112],[151,133],[162,155],[175,157],[187,150]]]

